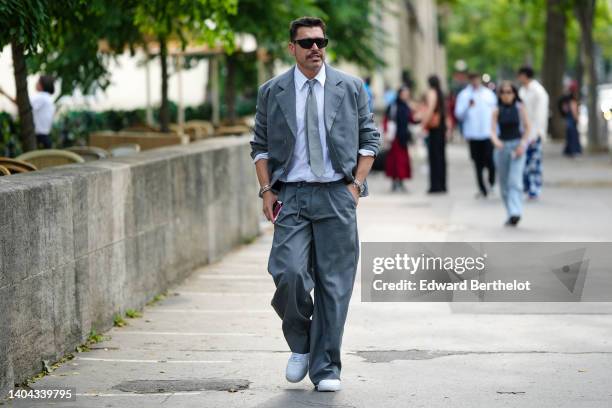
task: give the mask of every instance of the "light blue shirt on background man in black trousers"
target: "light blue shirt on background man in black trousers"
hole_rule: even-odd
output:
[[[470,100],[474,104],[470,106]],[[466,86],[457,96],[455,116],[461,121],[461,133],[468,140],[485,140],[491,137],[493,110],[497,98],[489,88],[479,85]]]

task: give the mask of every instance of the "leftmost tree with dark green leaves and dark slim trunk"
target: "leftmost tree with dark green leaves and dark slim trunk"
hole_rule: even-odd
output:
[[[123,48],[137,31],[125,19],[133,0],[7,0],[0,3],[0,48],[10,42],[13,54],[17,108],[23,149],[36,149],[28,72],[46,72],[61,78],[60,96],[75,88],[88,93],[109,83],[108,55],[99,52],[99,40]]]

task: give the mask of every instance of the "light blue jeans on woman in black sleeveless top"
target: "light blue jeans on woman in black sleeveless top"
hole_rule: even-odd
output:
[[[508,217],[520,217],[523,213],[523,171],[525,153],[513,158],[513,151],[520,139],[504,141],[504,147],[495,149],[494,159],[499,176],[499,190],[506,206]]]

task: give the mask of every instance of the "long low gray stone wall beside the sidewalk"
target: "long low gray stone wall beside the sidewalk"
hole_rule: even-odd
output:
[[[0,397],[259,233],[246,137],[0,177]]]

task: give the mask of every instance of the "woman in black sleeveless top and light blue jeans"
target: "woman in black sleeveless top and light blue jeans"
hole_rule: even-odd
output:
[[[508,214],[506,225],[516,226],[523,214],[523,171],[530,126],[512,83],[502,82],[498,96],[491,122],[491,141],[495,146],[499,190]]]

